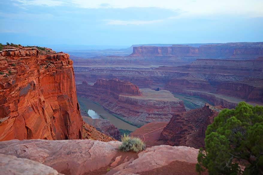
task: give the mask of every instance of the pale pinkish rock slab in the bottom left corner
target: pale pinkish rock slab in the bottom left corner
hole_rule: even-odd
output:
[[[3,175],[63,175],[42,163],[5,154],[0,154],[0,170]]]

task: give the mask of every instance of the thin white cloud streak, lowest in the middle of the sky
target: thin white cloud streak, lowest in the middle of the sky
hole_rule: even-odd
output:
[[[144,24],[154,24],[158,22],[163,22],[164,19],[150,20],[150,21],[136,21],[136,20],[114,20],[114,19],[106,19],[107,25],[144,25]]]

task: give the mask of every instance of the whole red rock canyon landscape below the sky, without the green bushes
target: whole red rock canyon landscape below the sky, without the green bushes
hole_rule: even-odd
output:
[[[4,45],[0,168],[7,174],[197,174],[198,149],[214,117],[239,101],[263,104],[262,48],[135,46],[129,56],[75,58],[73,70],[63,52]],[[89,115],[92,109],[98,118]],[[118,150],[120,129],[141,138],[145,149]]]

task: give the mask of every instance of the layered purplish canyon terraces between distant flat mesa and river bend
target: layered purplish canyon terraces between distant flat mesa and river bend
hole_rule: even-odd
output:
[[[263,57],[254,60],[197,59],[186,66],[158,68],[75,67],[76,81],[117,78],[139,88],[194,95],[233,108],[240,101],[262,105]]]

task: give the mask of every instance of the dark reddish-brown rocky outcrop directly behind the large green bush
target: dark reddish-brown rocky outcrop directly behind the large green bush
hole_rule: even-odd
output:
[[[204,147],[205,130],[220,109],[206,104],[181,115],[174,115],[161,133],[160,139],[173,146]]]

